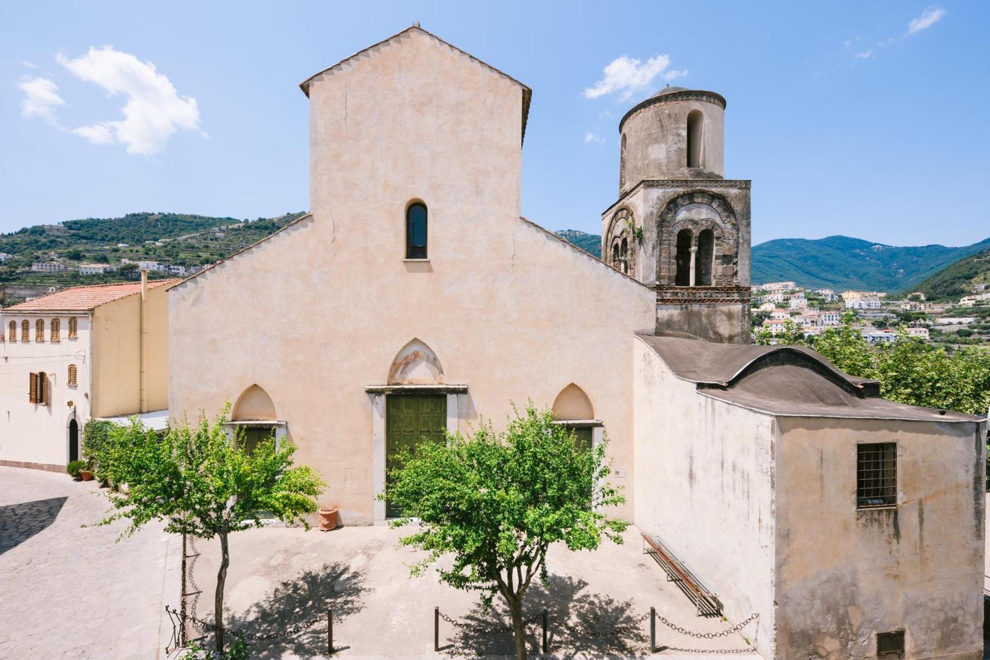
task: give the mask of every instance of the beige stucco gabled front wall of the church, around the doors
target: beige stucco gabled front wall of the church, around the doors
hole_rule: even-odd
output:
[[[310,105],[313,217],[169,293],[172,416],[260,385],[328,479],[321,503],[368,523],[365,387],[419,338],[468,386],[460,430],[579,385],[631,486],[630,335],[652,329],[654,296],[519,218],[522,89],[413,32],[315,79]],[[429,262],[403,261],[412,199]]]

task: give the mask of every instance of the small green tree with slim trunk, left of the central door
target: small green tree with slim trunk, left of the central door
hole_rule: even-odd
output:
[[[316,497],[326,487],[311,468],[293,467],[292,444],[276,446],[269,437],[248,451],[242,437],[228,437],[229,410],[228,403],[212,421],[201,415],[191,428],[183,420],[161,437],[137,418],[115,431],[108,474],[127,488],[107,493],[112,509],[100,523],[128,519],[124,536],[149,520],[161,520],[172,534],[220,538],[214,603],[218,653],[224,651],[228,535],[260,527],[261,511],[309,529],[304,516],[316,510]]]

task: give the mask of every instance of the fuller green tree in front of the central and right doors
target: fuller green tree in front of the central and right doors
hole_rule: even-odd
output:
[[[440,579],[480,592],[486,606],[496,595],[505,600],[519,660],[526,658],[524,597],[534,577],[546,581],[550,544],[594,550],[603,538],[621,543],[628,524],[602,512],[625,501],[606,481],[604,443],[581,446],[532,403],[504,432],[482,423],[466,437],[421,442],[403,451],[399,464],[379,497],[402,508],[395,526],[419,520],[419,530],[401,541],[429,553],[413,575],[452,556]]]

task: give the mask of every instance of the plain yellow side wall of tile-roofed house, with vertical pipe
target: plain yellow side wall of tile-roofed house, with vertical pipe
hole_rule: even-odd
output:
[[[168,297],[166,286],[148,289],[145,304],[133,293],[93,312],[93,416],[168,407]],[[144,333],[144,346],[142,344]],[[145,372],[142,379],[142,371]],[[142,385],[145,401],[142,404]]]

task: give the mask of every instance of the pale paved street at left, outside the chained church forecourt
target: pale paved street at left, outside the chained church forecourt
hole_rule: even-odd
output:
[[[163,657],[180,544],[157,525],[119,543],[122,524],[81,527],[107,508],[97,491],[0,467],[0,658]]]

